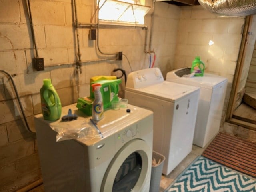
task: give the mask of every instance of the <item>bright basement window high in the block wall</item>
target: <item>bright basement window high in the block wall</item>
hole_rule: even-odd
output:
[[[101,22],[144,24],[144,16],[150,10],[145,0],[99,0]]]

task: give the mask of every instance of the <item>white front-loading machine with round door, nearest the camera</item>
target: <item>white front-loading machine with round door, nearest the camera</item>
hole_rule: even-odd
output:
[[[128,105],[104,112],[97,123],[99,135],[56,142],[52,128],[88,126],[91,118],[76,108],[62,108],[78,115],[77,120],[50,122],[36,115],[38,153],[46,192],[148,192],[150,188],[153,113]],[[87,118],[86,118],[87,117]],[[52,128],[51,128],[52,127]],[[89,139],[90,138],[90,139]],[[122,190],[120,190],[122,188]],[[128,190],[127,190],[128,188]]]

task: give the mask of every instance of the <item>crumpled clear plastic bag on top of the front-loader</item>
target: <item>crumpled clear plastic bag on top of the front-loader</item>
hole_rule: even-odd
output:
[[[64,123],[63,125],[50,125],[50,127],[57,132],[56,142],[78,138],[83,138],[84,140],[101,138],[98,131],[87,122],[82,123],[80,126]]]

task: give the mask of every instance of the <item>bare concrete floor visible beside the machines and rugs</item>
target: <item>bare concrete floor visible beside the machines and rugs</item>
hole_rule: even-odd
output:
[[[193,145],[190,154],[188,154],[188,156],[186,156],[186,158],[184,158],[184,160],[182,160],[182,162],[180,162],[180,164],[169,175],[162,175],[159,192],[164,192],[164,190],[178,177],[178,175],[182,173],[182,171],[185,170],[194,159],[201,155],[202,152],[204,152],[204,148]],[[44,192],[44,186],[42,184],[28,192]]]

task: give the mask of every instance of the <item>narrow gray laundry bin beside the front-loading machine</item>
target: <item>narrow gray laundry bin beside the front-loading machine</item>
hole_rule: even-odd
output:
[[[162,176],[162,170],[164,166],[164,160],[165,156],[162,154],[159,154],[158,152],[153,151],[152,159],[155,158],[156,162],[158,162],[159,159],[161,159],[161,162],[156,165],[152,166],[151,170],[151,180],[150,180],[150,192],[159,192],[160,188],[160,180]]]

